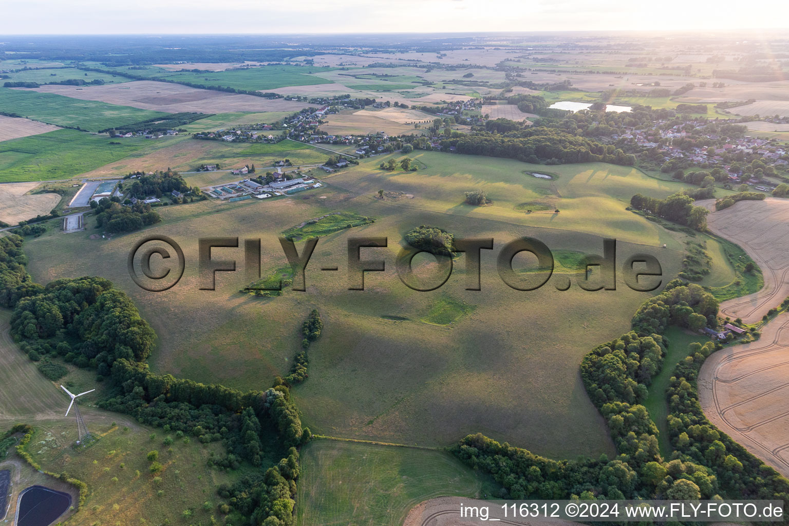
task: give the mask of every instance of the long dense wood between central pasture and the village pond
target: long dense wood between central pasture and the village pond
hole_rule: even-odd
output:
[[[518,125],[520,127],[520,125]],[[523,162],[611,162],[634,166],[635,155],[627,155],[613,145],[604,145],[555,128],[533,127],[504,134],[473,132],[441,141],[443,150],[454,147],[458,153],[506,157]]]

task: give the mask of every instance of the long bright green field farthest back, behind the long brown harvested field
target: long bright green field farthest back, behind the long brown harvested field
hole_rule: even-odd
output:
[[[136,69],[131,73],[147,78],[163,78],[174,82],[189,82],[204,86],[229,86],[230,88],[267,91],[286,86],[308,86],[312,84],[329,84],[330,81],[310,73],[331,71],[332,68],[301,67],[294,65],[267,65],[260,68],[241,69],[236,71],[215,71],[211,73],[173,72],[166,69],[148,66],[148,69]],[[111,72],[112,69],[107,69]],[[122,71],[122,70],[119,70]]]

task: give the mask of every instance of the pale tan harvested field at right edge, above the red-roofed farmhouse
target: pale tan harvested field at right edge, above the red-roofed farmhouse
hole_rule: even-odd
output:
[[[712,201],[700,202],[710,210]],[[789,296],[789,200],[740,201],[707,217],[707,226],[720,237],[739,244],[761,267],[765,286],[757,293],[726,300],[720,313],[755,323]]]

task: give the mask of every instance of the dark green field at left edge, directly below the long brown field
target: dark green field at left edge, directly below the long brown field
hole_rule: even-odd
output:
[[[0,88],[0,111],[48,124],[74,126],[91,132],[164,115],[129,106],[114,106],[52,93],[10,88]]]

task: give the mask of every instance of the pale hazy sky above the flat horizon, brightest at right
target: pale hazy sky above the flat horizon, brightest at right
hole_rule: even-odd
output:
[[[0,34],[789,28],[789,1],[0,0]]]

